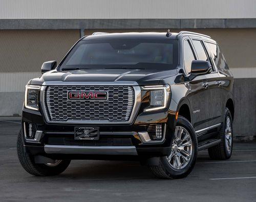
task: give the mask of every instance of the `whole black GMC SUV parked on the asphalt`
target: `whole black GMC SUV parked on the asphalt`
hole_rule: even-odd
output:
[[[199,150],[232,152],[233,76],[219,45],[193,33],[94,33],[26,85],[18,158],[33,175],[73,159],[138,160],[181,178]]]

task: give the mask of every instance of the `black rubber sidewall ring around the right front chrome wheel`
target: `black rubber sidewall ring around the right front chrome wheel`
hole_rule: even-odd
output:
[[[175,178],[175,176],[177,176],[177,178],[179,178],[179,177],[188,175],[191,172],[191,170],[194,168],[194,165],[195,165],[196,159],[197,159],[197,152],[198,152],[198,143],[197,143],[196,132],[195,132],[193,126],[188,122],[188,120],[179,116],[176,126],[182,126],[189,132],[191,141],[193,143],[193,151],[192,151],[192,155],[191,155],[189,163],[184,168],[182,168],[180,170],[172,168],[170,166],[170,164],[168,163],[165,156],[161,157],[161,163],[166,170],[166,174],[172,176],[172,178]],[[174,139],[174,133],[172,134],[172,141],[170,144],[172,144],[173,139]]]

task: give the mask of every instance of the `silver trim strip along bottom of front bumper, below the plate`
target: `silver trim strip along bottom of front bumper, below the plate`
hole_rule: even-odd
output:
[[[49,154],[138,155],[135,146],[45,145],[45,152]]]

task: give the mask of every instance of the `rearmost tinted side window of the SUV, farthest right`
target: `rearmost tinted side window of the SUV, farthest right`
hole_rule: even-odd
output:
[[[209,43],[205,42],[212,59],[214,60],[216,66],[218,69],[227,69],[228,70],[228,65],[227,62],[224,58],[224,55],[220,51],[220,47],[214,43]]]

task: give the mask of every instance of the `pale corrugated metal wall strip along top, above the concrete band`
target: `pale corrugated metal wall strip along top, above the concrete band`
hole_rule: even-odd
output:
[[[1,0],[0,19],[255,18],[255,0]]]

